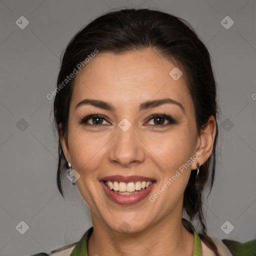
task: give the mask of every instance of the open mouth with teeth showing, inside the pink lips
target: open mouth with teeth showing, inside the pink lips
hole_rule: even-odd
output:
[[[137,192],[140,192],[142,190],[145,190],[147,187],[149,187],[154,180],[152,181],[136,181],[136,182],[118,182],[118,181],[108,181],[103,180],[105,185],[110,189],[113,190],[113,192],[117,194],[134,194]]]

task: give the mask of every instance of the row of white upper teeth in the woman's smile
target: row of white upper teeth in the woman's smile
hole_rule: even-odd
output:
[[[152,181],[136,181],[135,184],[134,182],[111,182],[111,181],[105,181],[105,184],[110,188],[115,191],[120,191],[120,192],[134,192],[135,190],[140,190],[144,189],[145,187],[148,187],[152,184]]]

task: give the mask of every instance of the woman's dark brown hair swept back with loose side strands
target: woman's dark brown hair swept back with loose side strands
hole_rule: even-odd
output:
[[[153,49],[159,56],[170,60],[182,70],[194,104],[199,135],[207,124],[209,116],[213,115],[216,119],[218,115],[216,82],[206,46],[187,21],[174,15],[151,9],[121,9],[97,17],[78,31],[66,46],[62,55],[57,85],[61,84],[77,64],[84,61],[95,49],[99,53],[122,54],[145,48]],[[53,105],[54,131],[61,132],[66,139],[74,79],[75,77],[70,79],[56,93]],[[62,124],[61,128],[58,126],[59,123]],[[195,189],[196,172],[191,171],[184,191],[183,209],[190,220],[199,220],[201,224],[200,238],[216,255],[219,255],[214,242],[206,234],[202,207],[202,192],[207,188],[210,191],[214,180],[217,137],[218,127],[216,124],[212,154],[200,166],[198,179],[200,190]],[[66,169],[67,162],[59,140],[57,187],[62,196],[61,180]]]

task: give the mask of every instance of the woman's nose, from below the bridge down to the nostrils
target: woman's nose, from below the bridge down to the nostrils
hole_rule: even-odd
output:
[[[109,160],[124,167],[131,167],[145,159],[145,145],[134,133],[133,126],[123,131],[116,127],[116,134],[111,140]]]

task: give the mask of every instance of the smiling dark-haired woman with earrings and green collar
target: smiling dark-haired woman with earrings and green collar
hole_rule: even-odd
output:
[[[216,84],[185,20],[149,9],[96,18],[67,45],[54,95],[57,186],[63,195],[61,177],[75,181],[93,227],[52,255],[219,255],[202,211]]]

